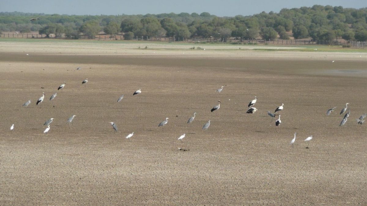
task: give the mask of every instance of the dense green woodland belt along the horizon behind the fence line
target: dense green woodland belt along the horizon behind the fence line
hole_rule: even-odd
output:
[[[39,19],[30,21],[32,18]],[[330,5],[283,8],[279,13],[261,12],[252,16],[218,17],[207,12],[146,15],[59,15],[0,12],[0,32],[38,31],[66,38],[79,38],[80,34],[94,37],[103,31],[116,35],[124,33],[129,40],[136,36],[149,37],[241,37],[253,39],[312,38],[332,41],[367,40],[367,8],[343,8]]]

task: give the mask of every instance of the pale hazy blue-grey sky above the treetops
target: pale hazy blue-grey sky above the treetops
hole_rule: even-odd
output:
[[[367,0],[0,0],[0,11],[70,15],[209,12],[217,16],[246,16],[314,4],[363,8],[367,7]]]

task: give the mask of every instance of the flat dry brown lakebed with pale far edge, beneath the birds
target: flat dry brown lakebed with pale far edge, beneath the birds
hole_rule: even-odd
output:
[[[44,45],[0,44],[1,205],[367,204],[366,125],[356,124],[367,113],[365,56],[179,49],[97,55],[98,45],[81,45],[60,43],[58,55],[55,43],[50,54]],[[259,111],[246,114],[254,96]],[[350,117],[340,127],[347,102]],[[276,128],[266,111],[281,103]]]

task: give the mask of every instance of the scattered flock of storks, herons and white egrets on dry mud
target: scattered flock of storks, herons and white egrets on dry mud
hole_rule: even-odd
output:
[[[80,69],[81,69],[81,67],[77,67],[77,69],[76,69],[76,70],[80,70]],[[87,78],[81,82],[81,84],[82,84],[82,85],[85,85],[85,84],[87,84],[87,83],[88,83],[88,79],[87,79]],[[66,85],[66,82],[63,82],[63,84],[61,84],[61,85],[57,88],[57,90],[61,90],[61,89],[65,88],[65,85]],[[218,92],[218,93],[221,93],[221,91],[223,90],[223,88],[224,88],[224,86],[222,86],[221,88],[217,89],[217,92]],[[142,92],[142,90],[141,90],[141,89],[138,89],[138,90],[137,90],[137,91],[135,91],[132,95],[133,95],[133,96],[134,96],[134,95],[138,95],[138,94],[140,94],[141,92]],[[57,96],[57,93],[54,93],[53,95],[51,95],[51,97],[50,97],[50,101],[51,101],[51,100],[53,100],[53,99],[55,99],[55,98],[56,98],[56,96]],[[36,105],[41,104],[41,103],[43,102],[43,100],[44,100],[44,97],[45,97],[45,93],[43,92],[43,93],[42,93],[42,96],[37,100]],[[117,100],[117,102],[120,102],[123,98],[124,98],[124,95],[121,95],[121,96],[119,97],[119,99]],[[252,107],[252,106],[254,106],[254,105],[256,104],[257,99],[258,99],[258,98],[257,98],[257,96],[255,96],[255,99],[254,99],[254,100],[252,100],[252,101],[250,101],[250,103],[248,103],[248,107],[249,107],[249,108],[248,108],[248,110],[246,111],[246,113],[253,114],[253,113],[255,113],[256,111],[258,111],[258,109],[257,109],[257,108]],[[27,106],[29,106],[29,104],[30,104],[30,100],[28,100],[27,102],[25,102],[25,103],[23,104],[23,107],[27,107]],[[345,107],[341,110],[340,114],[345,113],[345,111],[346,111],[346,110],[347,110],[347,108],[348,108],[348,104],[349,104],[349,103],[346,103],[346,104],[345,104]],[[213,108],[211,108],[211,110],[210,110],[210,111],[211,111],[211,112],[214,112],[214,111],[215,111],[215,113],[217,113],[217,111],[219,110],[220,106],[221,106],[221,101],[220,101],[220,100],[218,100],[218,105],[215,105]],[[272,119],[273,119],[273,118],[275,118],[275,117],[276,117],[276,115],[278,115],[278,116],[279,116],[279,118],[275,121],[275,126],[280,126],[280,124],[281,124],[280,114],[277,114],[277,113],[279,113],[280,111],[282,111],[282,110],[283,110],[283,108],[284,108],[284,104],[282,103],[282,104],[281,104],[281,106],[279,106],[279,107],[277,107],[277,108],[275,109],[274,113],[271,113],[270,111],[268,111],[268,115],[269,115]],[[328,116],[328,115],[330,115],[330,114],[335,110],[335,108],[337,108],[337,107],[333,107],[333,108],[331,108],[331,109],[327,110],[326,115],[327,115],[327,116]],[[345,125],[346,121],[348,120],[349,115],[350,115],[350,109],[348,110],[348,113],[346,113],[346,114],[344,115],[344,118],[343,118],[343,119],[342,119],[342,121],[340,122],[339,126],[343,126],[343,125]],[[69,125],[72,123],[72,121],[73,121],[73,119],[74,119],[75,117],[76,117],[76,115],[72,115],[72,116],[68,119],[68,121],[67,121],[67,122],[68,122],[68,124],[69,124]],[[193,116],[189,118],[189,120],[187,121],[187,123],[188,123],[188,124],[190,124],[192,121],[194,121],[195,117],[196,117],[196,112],[194,112],[194,113],[193,113]],[[365,118],[365,117],[366,117],[366,114],[361,115],[361,116],[360,116],[360,118],[359,118],[359,119],[357,119],[357,124],[362,125],[362,124],[363,124],[363,122],[364,122],[364,118]],[[166,125],[166,124],[168,123],[168,119],[169,119],[169,118],[167,117],[164,121],[160,122],[160,124],[158,125],[158,127]],[[50,119],[48,119],[48,120],[44,123],[44,125],[46,125],[46,126],[47,126],[47,128],[43,131],[43,133],[46,133],[46,135],[47,135],[47,133],[50,131],[50,124],[52,123],[52,121],[53,121],[53,120],[54,120],[54,118],[50,118]],[[114,132],[118,132],[116,124],[115,124],[114,122],[109,122],[109,123],[112,125],[112,128],[113,128]],[[202,128],[202,129],[203,129],[203,130],[207,130],[207,129],[209,128],[209,126],[210,126],[210,120],[208,120],[208,122],[206,122],[206,124],[204,124],[204,126],[203,126],[203,128]],[[12,124],[12,125],[11,125],[10,130],[14,130],[14,124]],[[294,138],[293,138],[293,139],[291,140],[291,142],[290,142],[290,144],[292,145],[292,147],[293,147],[293,145],[294,145],[294,143],[295,143],[296,134],[297,134],[297,133],[294,133]],[[126,136],[126,139],[128,139],[128,140],[130,141],[130,138],[131,138],[133,135],[134,135],[134,132],[130,133],[129,135],[127,135],[127,136]],[[181,136],[178,138],[178,140],[182,141],[182,139],[183,139],[185,136],[186,136],[186,134],[181,135]],[[307,141],[307,142],[308,142],[308,144],[309,144],[309,141],[310,141],[310,140],[312,140],[312,138],[313,138],[313,136],[311,135],[311,136],[307,137],[304,141]]]

